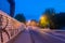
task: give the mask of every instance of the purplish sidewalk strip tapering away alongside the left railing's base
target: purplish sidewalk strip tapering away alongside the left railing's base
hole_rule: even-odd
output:
[[[21,32],[15,39],[8,43],[31,43],[30,34],[27,30]]]

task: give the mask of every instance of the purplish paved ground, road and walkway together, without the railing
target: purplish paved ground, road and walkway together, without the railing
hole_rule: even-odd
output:
[[[50,29],[25,29],[12,43],[65,43],[65,31],[57,32]]]

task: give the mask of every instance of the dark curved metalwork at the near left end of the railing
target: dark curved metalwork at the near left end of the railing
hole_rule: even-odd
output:
[[[1,23],[0,26],[2,26],[2,22],[3,22],[2,18],[3,18],[3,15],[0,14],[0,23]],[[3,43],[2,32],[5,32],[5,33],[8,34],[8,37],[9,37],[9,39],[10,39],[10,35],[9,35],[8,31],[5,30],[8,24],[9,24],[9,20],[8,20],[8,17],[6,17],[6,25],[5,25],[5,27],[3,27],[3,28],[1,27],[1,28],[0,28],[1,42],[2,42],[2,43]]]

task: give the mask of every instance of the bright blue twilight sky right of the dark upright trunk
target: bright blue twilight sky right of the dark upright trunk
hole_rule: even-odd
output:
[[[27,19],[39,19],[48,8],[56,12],[65,12],[65,0],[15,0],[15,14],[24,13]]]

